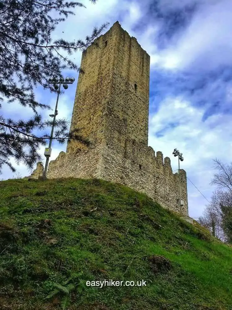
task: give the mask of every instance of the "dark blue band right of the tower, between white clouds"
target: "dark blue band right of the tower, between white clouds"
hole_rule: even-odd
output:
[[[232,66],[209,72],[173,72],[157,70],[151,74],[151,112],[158,109],[166,97],[182,97],[195,107],[205,107],[203,120],[216,113],[232,113],[227,100],[228,87],[232,82]]]

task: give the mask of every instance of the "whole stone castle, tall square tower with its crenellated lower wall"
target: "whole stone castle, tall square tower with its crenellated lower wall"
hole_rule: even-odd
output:
[[[170,158],[148,147],[150,56],[118,21],[82,54],[71,128],[92,142],[67,144],[49,164],[48,178],[99,178],[146,193],[180,212],[178,174]],[[183,215],[188,215],[186,172],[180,170]]]

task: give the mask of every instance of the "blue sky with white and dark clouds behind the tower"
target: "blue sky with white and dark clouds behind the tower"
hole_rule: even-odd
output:
[[[229,164],[232,154],[232,2],[99,0],[93,5],[85,0],[83,4],[86,9],[76,8],[75,16],[58,25],[54,40],[84,39],[95,25],[108,21],[109,29],[116,20],[137,38],[151,57],[148,145],[171,158],[174,172],[178,160],[172,151],[178,148],[184,156],[181,168],[210,200],[215,189],[210,185],[215,172],[212,159]],[[79,65],[81,52],[71,58]],[[78,74],[64,75],[76,80],[60,97],[58,117],[71,120]],[[54,108],[54,94],[38,87],[36,97]],[[15,119],[33,115],[17,103],[2,104],[2,113]],[[47,119],[51,111],[41,113]],[[66,145],[53,143],[51,159],[65,150]],[[22,176],[30,174],[23,165],[17,166],[13,159],[11,162]],[[4,166],[0,178],[13,175]],[[189,215],[197,217],[207,200],[189,180]]]

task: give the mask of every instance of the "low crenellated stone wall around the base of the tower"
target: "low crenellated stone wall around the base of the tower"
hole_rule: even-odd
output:
[[[128,150],[128,145],[130,149]],[[99,155],[100,153],[98,153]],[[96,150],[78,155],[61,152],[49,164],[48,178],[77,177],[101,178],[110,182],[124,184],[138,192],[145,193],[161,206],[180,212],[178,173],[173,174],[170,158],[151,147],[127,141],[123,153],[102,148],[101,160],[96,160]],[[112,161],[117,165],[112,167]],[[52,174],[52,175],[51,175]],[[184,200],[183,215],[188,215],[186,172],[180,170],[181,199]]]

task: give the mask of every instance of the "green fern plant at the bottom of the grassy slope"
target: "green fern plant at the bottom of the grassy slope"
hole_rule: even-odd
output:
[[[77,286],[77,291],[80,293],[84,289],[84,280],[80,280],[77,285],[70,283],[73,281],[73,277],[69,278],[63,284],[54,283],[55,289],[47,295],[47,298],[58,296],[61,297],[61,307],[63,310],[67,309],[71,302],[71,292]]]

